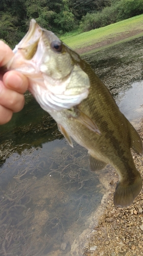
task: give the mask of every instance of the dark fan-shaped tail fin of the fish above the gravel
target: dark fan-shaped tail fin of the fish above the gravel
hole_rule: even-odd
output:
[[[142,188],[142,180],[137,172],[132,183],[128,180],[117,183],[113,202],[117,207],[127,207],[133,203]]]

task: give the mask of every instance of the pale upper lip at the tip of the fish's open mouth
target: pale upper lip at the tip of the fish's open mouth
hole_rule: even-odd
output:
[[[37,29],[39,30],[39,35],[36,38],[35,31]],[[13,53],[15,54],[18,51],[18,49],[26,47],[29,44],[29,41],[31,40],[31,38],[33,38],[33,41],[38,40],[38,38],[40,38],[41,34],[42,34],[42,28],[37,24],[35,19],[31,19],[30,27],[29,27],[27,33],[21,39],[19,44],[15,46],[15,48],[13,49]]]

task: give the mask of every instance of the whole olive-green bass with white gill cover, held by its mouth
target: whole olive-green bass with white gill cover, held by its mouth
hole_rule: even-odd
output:
[[[28,90],[57,122],[69,145],[73,139],[88,150],[91,171],[100,172],[107,164],[116,169],[115,206],[132,204],[142,179],[131,148],[141,156],[142,141],[89,63],[34,19],[13,52],[7,70],[28,77]]]

